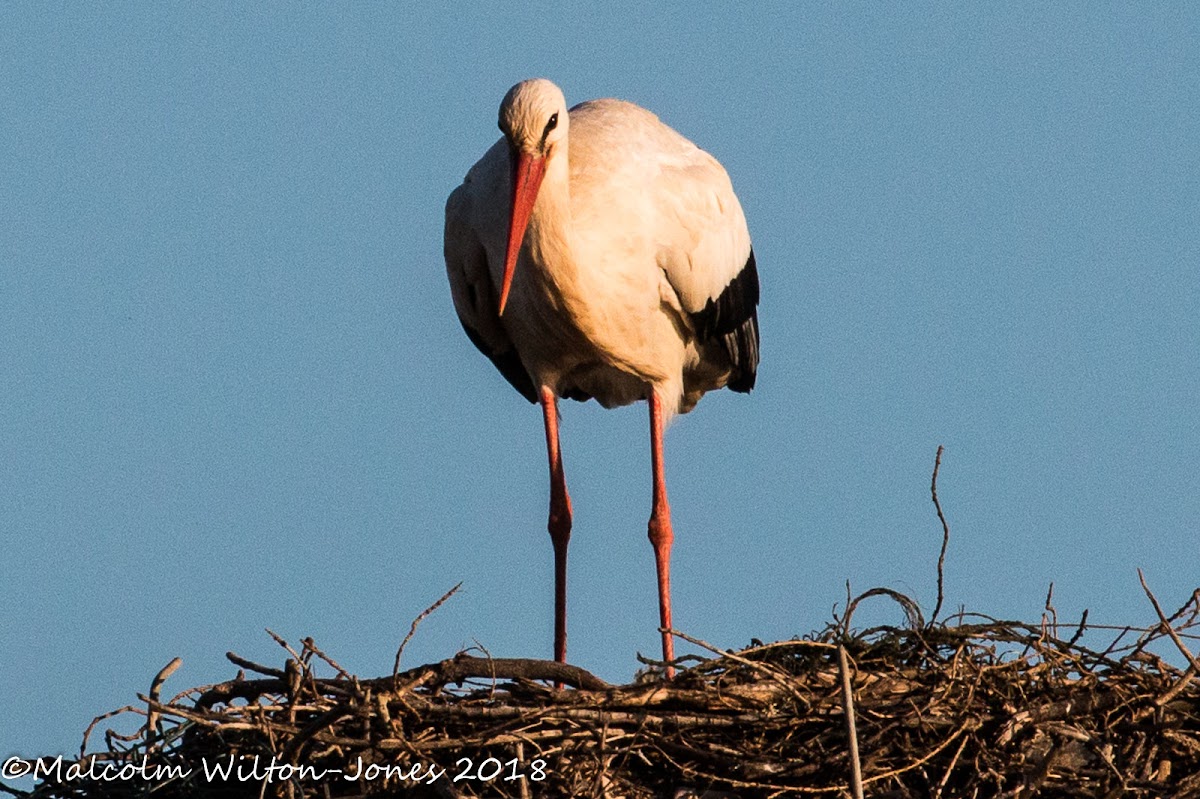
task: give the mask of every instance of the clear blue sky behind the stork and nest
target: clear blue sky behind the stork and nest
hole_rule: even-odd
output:
[[[667,434],[676,621],[845,596],[1145,623],[1198,582],[1200,12],[1187,5],[0,8],[0,755],[278,663],[548,656],[536,408],[462,335],[446,194],[527,77],[726,166],[749,397]],[[563,407],[570,660],[655,655],[643,405]],[[862,621],[900,623],[864,607]]]

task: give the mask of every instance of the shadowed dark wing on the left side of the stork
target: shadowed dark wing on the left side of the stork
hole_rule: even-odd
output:
[[[446,200],[444,248],[454,307],[467,337],[479,352],[491,359],[521,396],[538,402],[533,378],[500,325],[497,312],[499,293],[487,270],[487,252],[476,232],[470,191],[468,176],[468,181],[454,190]]]

